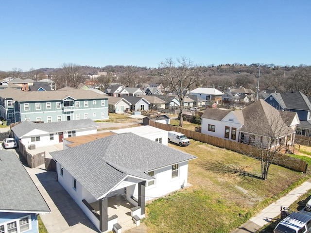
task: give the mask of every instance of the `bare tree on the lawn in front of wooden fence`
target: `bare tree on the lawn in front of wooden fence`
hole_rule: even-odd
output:
[[[253,146],[247,154],[259,158],[261,178],[266,180],[270,165],[279,159],[278,152],[293,144],[294,129],[285,122],[291,117],[293,121],[294,115],[277,111],[264,100],[258,100],[242,111],[241,141]]]

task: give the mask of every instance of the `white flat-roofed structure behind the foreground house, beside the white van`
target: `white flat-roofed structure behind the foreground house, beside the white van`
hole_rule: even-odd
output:
[[[134,133],[138,136],[148,138],[157,143],[168,144],[168,131],[161,130],[156,127],[145,125],[138,127],[125,128],[120,130],[110,130],[112,133]]]

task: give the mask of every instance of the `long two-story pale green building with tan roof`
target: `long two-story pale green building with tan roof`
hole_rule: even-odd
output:
[[[108,97],[75,88],[57,91],[0,91],[0,114],[8,122],[108,119]]]

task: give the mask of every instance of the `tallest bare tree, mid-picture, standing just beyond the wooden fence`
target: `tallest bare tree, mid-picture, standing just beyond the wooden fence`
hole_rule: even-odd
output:
[[[161,62],[161,74],[163,83],[171,86],[179,100],[179,126],[183,127],[182,111],[184,109],[184,99],[190,86],[199,82],[201,72],[199,66],[193,66],[190,59],[181,57],[177,58],[177,67],[172,58]],[[162,73],[163,72],[163,73]]]

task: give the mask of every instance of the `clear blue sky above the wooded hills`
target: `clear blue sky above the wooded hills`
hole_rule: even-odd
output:
[[[310,0],[0,0],[0,70],[311,65]]]

